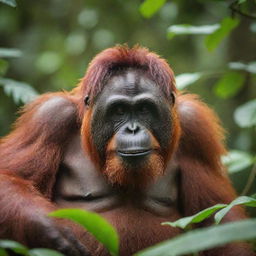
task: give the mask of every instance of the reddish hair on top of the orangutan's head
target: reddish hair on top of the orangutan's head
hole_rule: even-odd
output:
[[[133,67],[145,70],[167,97],[176,91],[174,74],[166,60],[138,45],[132,48],[117,45],[102,51],[91,61],[81,81],[82,95],[93,99],[118,68]]]

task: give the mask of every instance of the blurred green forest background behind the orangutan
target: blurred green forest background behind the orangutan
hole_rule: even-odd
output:
[[[236,150],[226,160],[233,168],[233,181],[241,192],[251,173],[249,191],[250,194],[256,192],[253,187],[253,172],[256,172],[254,0],[159,0],[159,9],[150,18],[146,18],[150,15],[143,11],[143,1],[139,0],[17,0],[15,8],[1,2],[3,0],[0,1],[0,47],[21,52],[10,58],[12,54],[4,56],[6,50],[3,50],[1,55],[0,49],[0,77],[25,82],[40,94],[72,89],[84,75],[92,57],[115,44],[138,43],[148,47],[166,58],[176,75],[199,72],[190,74],[186,85],[183,76],[180,88],[186,86],[186,90],[199,94],[216,110],[227,130],[227,146]],[[232,3],[238,11],[231,10]],[[189,31],[184,35],[177,35],[177,31],[170,33],[175,30],[175,24],[221,24],[225,17],[236,18],[239,24],[221,38],[215,49],[209,50],[205,43],[209,28],[207,33],[195,32],[195,35]],[[176,35],[172,39],[168,39],[168,28],[169,38]],[[186,30],[185,26],[183,28]],[[225,78],[225,74],[229,74],[228,77]],[[195,75],[199,76],[194,79]],[[8,83],[10,81],[3,80],[0,86],[0,136],[10,131],[17,110],[22,106],[17,95],[16,102],[8,96],[15,94],[8,93]],[[249,110],[236,112],[241,124],[235,121],[234,113],[247,102],[251,103]]]

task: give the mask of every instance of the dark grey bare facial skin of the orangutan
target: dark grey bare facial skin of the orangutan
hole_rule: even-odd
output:
[[[150,155],[150,133],[162,153],[171,136],[171,102],[143,71],[122,72],[108,80],[97,97],[92,116],[92,139],[102,159],[108,141],[116,136],[117,154],[134,163]],[[150,133],[149,133],[150,132]]]

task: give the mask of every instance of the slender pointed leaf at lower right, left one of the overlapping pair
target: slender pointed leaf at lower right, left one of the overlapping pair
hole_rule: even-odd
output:
[[[195,214],[193,216],[181,218],[174,222],[164,222],[164,223],[162,223],[162,225],[169,225],[172,227],[178,227],[178,228],[185,229],[190,224],[202,222],[206,218],[210,217],[213,213],[215,213],[219,209],[222,209],[225,206],[226,206],[226,204],[216,204],[212,207],[204,209],[201,212],[198,212],[197,214]]]

